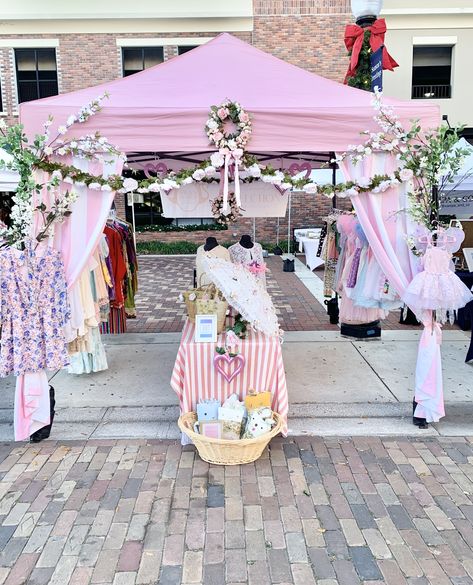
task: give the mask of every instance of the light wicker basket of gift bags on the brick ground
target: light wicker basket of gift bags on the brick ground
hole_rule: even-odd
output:
[[[196,446],[201,459],[215,465],[243,465],[256,461],[263,453],[269,441],[281,432],[283,420],[277,412],[273,412],[274,427],[256,439],[240,439],[231,441],[225,439],[211,439],[194,432],[194,423],[197,421],[195,412],[188,412],[179,417],[177,424],[183,433]]]

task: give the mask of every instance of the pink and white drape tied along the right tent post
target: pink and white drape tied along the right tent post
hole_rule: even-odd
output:
[[[356,166],[349,161],[341,163],[347,180],[390,174],[397,167],[396,159],[385,153],[367,157]],[[373,253],[396,292],[402,297],[406,287],[418,272],[418,261],[409,251],[406,234],[413,233],[413,224],[407,213],[398,213],[408,207],[405,184],[384,193],[363,193],[353,197],[353,206]],[[441,330],[434,330],[427,319],[419,342],[415,376],[416,416],[436,422],[445,415],[443,404],[442,362],[440,354]]]

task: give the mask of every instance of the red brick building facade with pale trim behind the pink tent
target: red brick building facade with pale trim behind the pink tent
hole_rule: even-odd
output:
[[[150,25],[149,30],[122,32],[117,27],[113,32],[44,32],[4,34],[0,30],[0,83],[2,92],[3,116],[7,122],[18,121],[18,91],[15,50],[17,47],[54,47],[57,65],[59,93],[82,89],[111,81],[123,74],[122,48],[130,42],[139,46],[140,40],[150,46],[150,39],[156,37],[156,45],[162,44],[164,60],[178,54],[179,39],[187,45],[201,43],[218,32],[230,32],[254,46],[274,54],[290,63],[309,71],[341,81],[346,66],[346,50],[343,45],[343,30],[351,19],[349,0],[253,0],[251,30],[233,30],[232,22],[220,31],[205,30],[202,23],[196,30],[186,27],[184,32],[156,32]],[[151,22],[151,21],[150,21]],[[67,27],[66,27],[67,28]],[[93,27],[90,27],[93,28]],[[142,28],[142,27],[141,27]],[[241,28],[241,27],[239,27]],[[110,26],[108,26],[110,29]],[[27,40],[25,40],[27,39]],[[284,80],[281,80],[284,83]],[[125,215],[125,198],[117,195],[117,210]],[[303,227],[318,225],[321,217],[330,209],[331,202],[320,196],[295,193],[292,205],[292,225]],[[237,237],[242,233],[252,233],[253,221],[241,220],[226,232]],[[260,219],[256,222],[257,238],[262,241],[275,241],[276,219]],[[287,218],[280,221],[280,233],[287,234]],[[189,239],[205,238],[206,233],[193,233]],[[147,233],[142,239],[174,240],[173,233]],[[182,234],[179,234],[182,238]],[[186,236],[187,237],[187,234]],[[284,237],[284,236],[283,236]]]

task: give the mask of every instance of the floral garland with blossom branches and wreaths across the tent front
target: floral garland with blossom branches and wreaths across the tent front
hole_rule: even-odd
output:
[[[13,197],[11,225],[6,230],[0,230],[0,237],[5,238],[10,245],[15,245],[30,234],[33,214],[36,212],[42,214],[45,225],[45,230],[40,236],[47,237],[51,233],[53,224],[63,221],[69,214],[75,198],[74,184],[86,185],[89,189],[101,191],[165,194],[172,189],[179,189],[194,182],[220,181],[222,172],[225,174],[228,168],[229,156],[230,161],[238,161],[240,165],[239,181],[243,183],[263,181],[277,186],[281,191],[294,189],[313,195],[319,193],[329,198],[356,197],[365,192],[383,193],[400,183],[407,183],[411,200],[409,213],[415,221],[430,225],[432,186],[439,185],[442,188],[446,183],[452,182],[453,176],[460,169],[464,157],[469,152],[466,149],[454,147],[458,140],[458,131],[442,126],[424,135],[417,123],[409,131],[404,130],[393,110],[382,104],[381,94],[375,92],[373,102],[377,111],[375,120],[381,131],[363,133],[367,135],[363,144],[350,146],[347,152],[337,156],[332,162],[350,159],[356,164],[373,152],[389,152],[397,157],[400,168],[390,175],[361,177],[355,181],[337,185],[319,185],[310,176],[293,176],[288,170],[260,164],[255,156],[245,152],[243,148],[251,136],[250,116],[238,102],[226,100],[220,106],[212,106],[206,124],[209,139],[219,147],[219,151],[213,153],[208,159],[194,167],[169,171],[160,177],[142,181],[118,175],[105,178],[91,175],[61,162],[61,158],[68,155],[99,161],[103,160],[107,154],[125,158],[98,132],[76,139],[66,137],[72,125],[81,124],[100,111],[101,102],[105,97],[107,97],[106,94],[99,96],[84,106],[77,115],[69,116],[66,124],[58,127],[57,135],[53,139],[49,135],[51,118],[44,123],[43,135],[36,136],[33,143],[28,142],[20,125],[7,128],[5,123],[0,121],[0,147],[13,155],[13,162],[4,166],[16,170],[20,175],[18,189]],[[221,132],[226,119],[237,125],[237,132],[231,135]],[[219,132],[222,137],[218,134]],[[34,180],[34,171],[37,169],[49,174],[49,179],[43,185],[37,185]],[[69,183],[71,190],[62,197],[55,196],[51,209],[43,209],[43,206],[32,207],[31,202],[35,193],[39,194],[46,187],[59,194],[61,182]],[[228,225],[241,215],[238,197],[231,194],[229,199],[229,212],[228,207],[223,209],[225,205],[222,197],[217,197],[212,203],[212,212],[220,225]]]

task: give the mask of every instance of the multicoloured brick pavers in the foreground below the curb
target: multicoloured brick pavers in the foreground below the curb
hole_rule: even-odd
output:
[[[472,441],[3,444],[0,583],[473,584]]]

